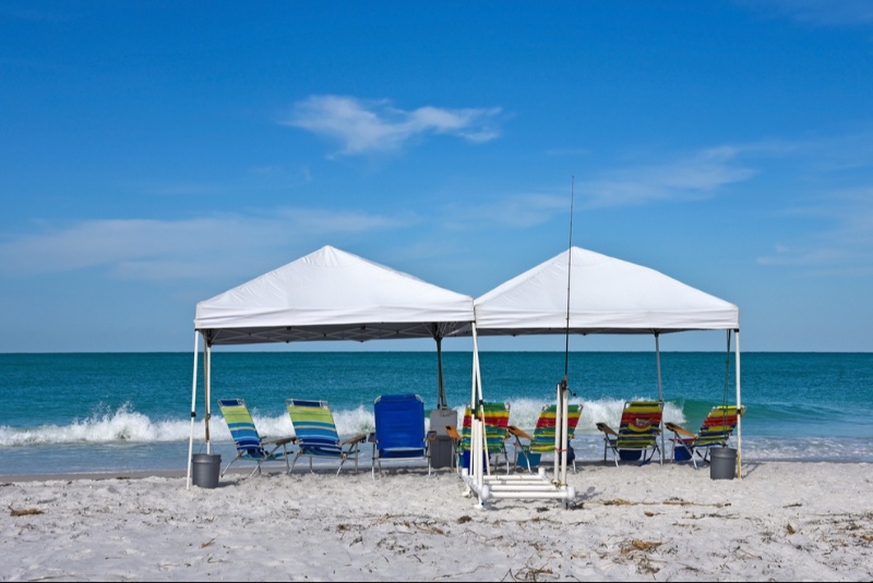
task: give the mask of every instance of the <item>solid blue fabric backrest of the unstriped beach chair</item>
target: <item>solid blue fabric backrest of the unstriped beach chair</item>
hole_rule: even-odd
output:
[[[379,449],[424,447],[424,401],[418,394],[383,394],[373,402]]]

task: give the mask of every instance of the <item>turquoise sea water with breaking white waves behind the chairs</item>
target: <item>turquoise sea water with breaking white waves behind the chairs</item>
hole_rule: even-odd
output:
[[[511,405],[510,423],[533,427],[563,377],[558,352],[480,355],[487,400]],[[734,402],[732,357],[723,353],[661,354],[665,421],[696,430],[706,412]],[[450,406],[470,399],[471,355],[443,354]],[[200,363],[202,367],[202,362]],[[873,462],[873,354],[749,353],[742,355],[743,456],[746,461]],[[186,467],[193,355],[0,354],[0,474]],[[602,459],[595,423],[617,424],[625,400],[657,398],[653,353],[574,352],[570,386],[583,416],[579,459]],[[195,452],[202,449],[199,374]],[[417,392],[436,405],[436,355],[430,352],[213,353],[213,446],[235,450],[217,406],[246,399],[262,434],[289,435],[286,398],[331,403],[342,435],[373,428],[372,402],[383,393]]]

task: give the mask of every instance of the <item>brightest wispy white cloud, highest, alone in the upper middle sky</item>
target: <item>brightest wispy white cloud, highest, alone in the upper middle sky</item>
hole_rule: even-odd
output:
[[[424,134],[449,134],[470,142],[499,136],[500,108],[442,109],[431,106],[412,111],[388,100],[362,100],[336,95],[313,95],[295,104],[284,125],[300,127],[336,141],[346,156],[391,151]]]

